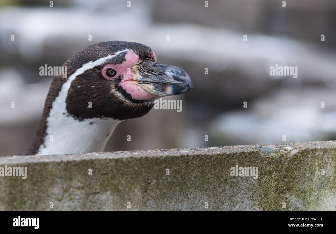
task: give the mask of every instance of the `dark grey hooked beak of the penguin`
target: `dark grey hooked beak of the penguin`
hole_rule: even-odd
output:
[[[132,69],[136,85],[151,95],[170,96],[193,90],[190,76],[179,67],[145,59]]]

